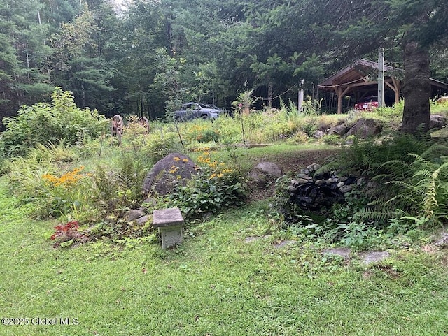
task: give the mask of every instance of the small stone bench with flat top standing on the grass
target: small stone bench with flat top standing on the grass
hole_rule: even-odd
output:
[[[158,228],[162,235],[162,249],[181,244],[182,224],[185,222],[178,207],[154,210],[153,227]]]

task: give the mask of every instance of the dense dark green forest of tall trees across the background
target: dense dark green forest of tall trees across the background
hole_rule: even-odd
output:
[[[424,105],[428,76],[448,79],[446,17],[445,0],[0,0],[0,118],[55,87],[151,119],[183,101],[230,108],[248,89],[263,105],[301,87],[318,98],[318,82],[379,47],[406,70],[405,101],[419,87]]]

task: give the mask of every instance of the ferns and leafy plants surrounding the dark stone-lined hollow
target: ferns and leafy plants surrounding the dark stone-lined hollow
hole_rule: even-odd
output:
[[[448,214],[448,147],[413,136],[397,136],[383,143],[355,141],[349,150],[323,166],[370,178],[367,184],[344,194],[344,203],[323,212],[325,221],[303,221],[304,212],[288,192],[290,176],[279,179],[274,208],[279,221],[301,233],[339,242],[356,249],[384,243],[384,238],[419,226],[446,224]],[[409,154],[409,152],[420,154]],[[409,225],[412,222],[414,225]],[[392,226],[395,226],[393,228]],[[375,238],[377,237],[377,238]]]

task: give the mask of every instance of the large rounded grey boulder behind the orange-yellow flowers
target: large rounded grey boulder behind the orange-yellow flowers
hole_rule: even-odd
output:
[[[166,195],[173,191],[176,184],[185,183],[195,174],[197,166],[192,159],[180,153],[172,153],[155,163],[145,177],[143,189]]]

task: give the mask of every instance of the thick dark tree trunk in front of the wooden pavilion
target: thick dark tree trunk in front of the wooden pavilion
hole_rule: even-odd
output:
[[[402,93],[405,98],[405,109],[401,131],[415,134],[417,131],[429,130],[430,119],[430,81],[429,50],[422,48],[415,41],[407,41],[404,45],[405,80]]]

